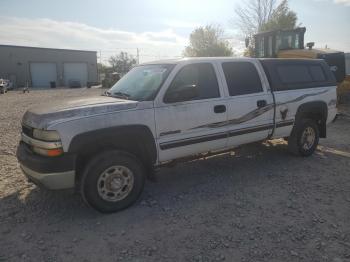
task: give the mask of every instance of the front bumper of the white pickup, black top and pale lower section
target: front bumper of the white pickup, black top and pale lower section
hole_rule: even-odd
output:
[[[75,155],[43,157],[20,142],[17,159],[23,173],[34,184],[52,190],[69,189],[75,185]]]

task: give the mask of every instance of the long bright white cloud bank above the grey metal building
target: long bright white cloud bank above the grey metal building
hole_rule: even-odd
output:
[[[0,44],[102,51],[104,61],[113,53],[128,51],[141,61],[181,55],[187,38],[172,28],[159,32],[135,33],[103,29],[77,22],[0,16]]]

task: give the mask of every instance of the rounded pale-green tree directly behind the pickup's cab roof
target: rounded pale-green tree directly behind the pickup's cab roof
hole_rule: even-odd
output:
[[[183,52],[187,57],[232,56],[228,41],[223,40],[220,26],[207,25],[195,29],[190,35],[190,45]]]

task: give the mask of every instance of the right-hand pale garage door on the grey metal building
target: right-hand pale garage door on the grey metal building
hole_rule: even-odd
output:
[[[64,63],[64,84],[69,86],[71,81],[80,81],[82,86],[86,86],[88,79],[86,63]]]

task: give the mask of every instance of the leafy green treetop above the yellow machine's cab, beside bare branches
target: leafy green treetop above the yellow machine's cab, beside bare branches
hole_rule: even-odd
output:
[[[276,9],[273,10],[270,19],[261,25],[259,32],[294,29],[297,19],[297,14],[290,10],[288,1],[283,0]]]

